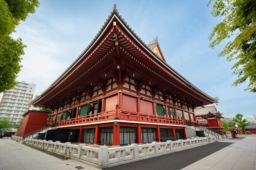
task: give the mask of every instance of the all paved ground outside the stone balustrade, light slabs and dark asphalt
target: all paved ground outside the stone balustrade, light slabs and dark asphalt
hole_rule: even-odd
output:
[[[0,170],[99,170],[0,139]],[[106,170],[256,170],[256,135],[215,142]]]

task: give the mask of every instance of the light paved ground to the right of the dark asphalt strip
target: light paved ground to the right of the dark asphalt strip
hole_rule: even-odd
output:
[[[256,135],[240,135],[222,142],[232,144],[182,170],[256,170]]]

